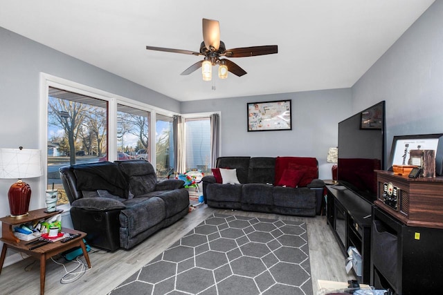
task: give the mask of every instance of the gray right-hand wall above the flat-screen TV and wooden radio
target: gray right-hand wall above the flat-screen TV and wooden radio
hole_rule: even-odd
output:
[[[386,100],[389,163],[393,136],[443,133],[442,97],[443,1],[437,0],[354,84],[352,109]]]

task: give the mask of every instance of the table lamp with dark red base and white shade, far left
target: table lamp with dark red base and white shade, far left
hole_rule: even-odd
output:
[[[36,178],[42,175],[41,153],[38,149],[0,149],[0,178],[18,181],[8,192],[11,217],[26,216],[29,211],[30,186],[22,178]]]

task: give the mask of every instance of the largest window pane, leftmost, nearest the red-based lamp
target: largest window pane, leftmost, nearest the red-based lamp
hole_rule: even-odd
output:
[[[58,204],[69,203],[58,169],[98,162],[107,151],[108,102],[48,88],[47,188],[59,189]]]

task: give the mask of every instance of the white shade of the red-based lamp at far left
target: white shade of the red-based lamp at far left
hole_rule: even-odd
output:
[[[0,149],[0,178],[22,179],[42,175],[39,149]]]

